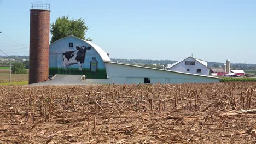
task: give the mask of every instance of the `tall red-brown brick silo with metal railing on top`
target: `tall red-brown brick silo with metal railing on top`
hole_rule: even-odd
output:
[[[48,80],[50,4],[31,3],[29,84]]]

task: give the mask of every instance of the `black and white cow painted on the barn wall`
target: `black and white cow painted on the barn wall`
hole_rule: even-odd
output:
[[[78,64],[79,70],[82,71],[82,64],[84,63],[86,51],[90,50],[91,47],[77,46],[77,51],[66,51],[63,53],[63,67],[66,71],[70,65]]]

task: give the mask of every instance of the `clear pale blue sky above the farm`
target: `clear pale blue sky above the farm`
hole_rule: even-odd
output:
[[[28,55],[31,2],[0,0],[0,49],[8,55]],[[193,53],[206,61],[256,64],[253,0],[36,2],[51,4],[51,23],[60,16],[84,19],[86,37],[111,58],[179,60]]]

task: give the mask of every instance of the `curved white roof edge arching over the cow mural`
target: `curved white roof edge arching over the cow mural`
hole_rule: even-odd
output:
[[[73,37],[73,38],[80,39],[80,38],[78,38],[78,37],[74,37],[73,35],[69,35],[69,36],[64,37],[64,38],[61,38],[61,39],[59,39],[59,40],[62,40],[62,39],[68,38],[68,37]],[[50,46],[53,45],[54,43],[56,43],[56,42],[59,41],[59,40],[54,41],[52,44],[50,44]],[[98,52],[98,54],[101,56],[101,58],[102,58],[103,61],[111,61],[110,58],[108,57],[107,53],[106,53],[105,51],[103,51],[100,46],[97,46],[96,44],[91,43],[90,41],[86,41],[86,40],[84,40],[84,39],[80,39],[80,40],[82,40],[82,41],[84,41],[85,43],[88,43],[89,45],[91,45],[92,47],[94,47],[94,49]]]

